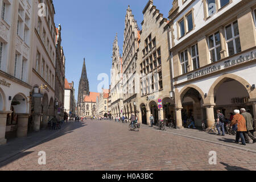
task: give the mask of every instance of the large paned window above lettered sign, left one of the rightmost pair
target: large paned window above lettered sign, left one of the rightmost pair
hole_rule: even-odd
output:
[[[215,62],[221,59],[221,43],[220,43],[220,32],[216,32],[208,37],[210,60]]]

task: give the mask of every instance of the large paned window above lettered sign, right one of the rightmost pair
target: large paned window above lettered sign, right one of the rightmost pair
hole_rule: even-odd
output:
[[[225,34],[229,56],[241,52],[240,35],[237,21],[225,27]]]

